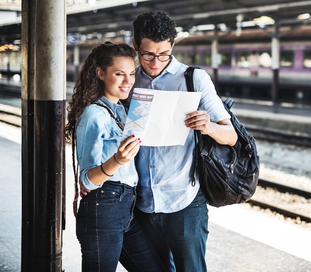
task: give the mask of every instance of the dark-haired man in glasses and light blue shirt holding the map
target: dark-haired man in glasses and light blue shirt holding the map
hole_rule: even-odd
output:
[[[174,20],[164,12],[151,11],[139,15],[133,26],[132,42],[140,62],[133,88],[187,91],[187,66],[172,56],[177,36]],[[185,126],[191,130],[185,144],[141,146],[136,158],[137,214],[166,268],[172,261],[171,270],[175,267],[177,272],[206,271],[208,209],[199,182],[191,184],[193,130],[221,144],[234,145],[237,140],[210,76],[196,69],[193,81],[202,97],[199,110],[186,116]]]

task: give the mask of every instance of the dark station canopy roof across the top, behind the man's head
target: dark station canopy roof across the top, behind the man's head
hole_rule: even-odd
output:
[[[136,17],[150,10],[167,12],[182,31],[193,31],[194,26],[210,24],[236,29],[237,18],[246,22],[261,16],[271,17],[280,26],[311,24],[310,18],[297,18],[311,11],[311,0],[96,0],[93,6],[67,4],[67,32],[100,33],[103,37],[108,33],[128,35]],[[0,21],[1,44],[20,38],[20,18]]]

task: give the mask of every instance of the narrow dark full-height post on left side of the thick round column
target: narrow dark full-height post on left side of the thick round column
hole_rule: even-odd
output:
[[[22,1],[22,272],[32,271],[33,265],[35,2]]]

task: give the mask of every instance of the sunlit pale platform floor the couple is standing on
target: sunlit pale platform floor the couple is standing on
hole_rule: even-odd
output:
[[[0,272],[21,262],[21,129],[0,123]],[[66,149],[66,229],[62,269],[78,272],[81,254],[72,211],[74,175]],[[194,222],[195,223],[195,222]],[[247,204],[209,206],[209,272],[311,272],[311,230],[256,211]],[[117,272],[126,272],[119,265]]]

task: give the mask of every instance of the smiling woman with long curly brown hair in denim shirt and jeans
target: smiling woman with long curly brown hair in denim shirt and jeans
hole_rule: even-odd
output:
[[[91,190],[77,215],[83,272],[113,272],[119,258],[128,271],[164,271],[133,214],[138,182],[133,158],[141,141],[130,136],[121,142],[126,111],[119,100],[128,98],[135,82],[135,56],[126,44],[95,47],[69,102],[65,136],[73,148],[76,138],[81,183]]]

